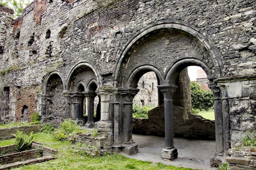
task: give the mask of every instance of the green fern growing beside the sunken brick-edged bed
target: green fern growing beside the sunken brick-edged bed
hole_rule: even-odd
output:
[[[32,147],[32,141],[33,141],[33,132],[30,132],[28,135],[23,134],[22,131],[17,131],[16,134],[12,134],[15,136],[15,145],[17,147],[17,150],[27,151],[30,150]]]

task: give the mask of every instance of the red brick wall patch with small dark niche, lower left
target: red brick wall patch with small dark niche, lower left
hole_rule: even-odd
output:
[[[35,91],[33,87],[17,88],[16,90],[15,115],[17,121],[23,120],[22,109],[24,105],[28,106],[28,122],[30,122],[30,115],[35,112],[36,108]]]

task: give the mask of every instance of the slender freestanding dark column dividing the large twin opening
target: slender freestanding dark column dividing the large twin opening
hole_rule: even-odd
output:
[[[175,85],[159,85],[157,86],[164,97],[165,105],[165,148],[162,150],[162,159],[173,160],[178,157],[177,149],[173,144],[173,106],[172,95],[177,86]]]

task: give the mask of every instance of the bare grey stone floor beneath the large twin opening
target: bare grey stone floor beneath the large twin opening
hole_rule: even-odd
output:
[[[127,155],[127,157],[178,167],[216,169],[210,168],[210,158],[214,155],[216,147],[214,140],[192,140],[174,137],[174,146],[178,150],[178,158],[170,162],[164,161],[160,157],[161,150],[165,145],[164,137],[133,134],[132,139],[138,144],[139,153]]]

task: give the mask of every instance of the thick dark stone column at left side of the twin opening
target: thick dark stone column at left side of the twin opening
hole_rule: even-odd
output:
[[[124,105],[124,143],[133,143],[132,141],[132,100],[139,92],[137,88],[125,88],[120,90],[123,96]]]

